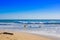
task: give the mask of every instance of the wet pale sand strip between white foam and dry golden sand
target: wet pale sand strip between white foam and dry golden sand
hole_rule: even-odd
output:
[[[56,37],[56,36],[47,36],[47,35],[41,35],[41,34],[36,34],[36,33],[31,33],[31,32],[26,32],[26,31],[9,31],[9,30],[1,30],[0,32],[11,32],[11,33],[17,33],[17,34],[29,34],[29,35],[34,35],[34,36],[38,36],[38,37],[43,37],[43,38],[47,38],[47,39],[52,39],[52,40],[60,40],[60,38]]]

